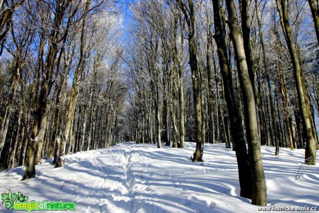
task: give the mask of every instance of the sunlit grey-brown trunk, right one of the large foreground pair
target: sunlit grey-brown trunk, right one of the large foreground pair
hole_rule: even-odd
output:
[[[234,53],[239,67],[239,80],[243,93],[248,153],[250,155],[250,165],[252,169],[252,204],[265,206],[267,204],[266,179],[263,162],[261,160],[255,97],[248,74],[243,37],[239,28],[234,0],[226,1],[226,6],[229,17],[227,23],[230,26],[230,36],[234,44]]]

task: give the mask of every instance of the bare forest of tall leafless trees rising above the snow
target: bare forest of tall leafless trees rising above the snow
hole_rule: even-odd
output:
[[[0,171],[121,142],[236,153],[266,205],[261,146],[319,129],[318,0],[1,0]]]

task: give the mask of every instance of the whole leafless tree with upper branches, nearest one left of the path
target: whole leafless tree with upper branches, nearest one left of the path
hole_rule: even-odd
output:
[[[42,31],[40,34],[42,35],[42,37],[40,37],[41,44],[38,58],[39,66],[37,67],[39,72],[38,78],[40,81],[40,94],[35,98],[35,103],[37,103],[37,108],[35,110],[36,116],[35,121],[33,122],[31,135],[28,135],[28,160],[26,163],[24,178],[22,178],[23,180],[33,178],[35,176],[35,164],[37,164],[37,162],[40,160],[40,152],[42,151],[44,134],[46,131],[46,125],[49,115],[47,113],[50,107],[49,94],[57,76],[55,65],[56,63],[60,63],[58,52],[63,51],[63,49],[58,46],[58,42],[60,40],[63,40],[63,37],[67,37],[71,23],[74,22],[74,17],[78,8],[80,7],[80,2],[74,5],[74,3],[72,3],[71,1],[58,1],[55,5],[51,5],[50,8],[47,8],[46,5],[44,5],[44,2],[40,2],[35,6],[37,6],[37,9],[40,10],[40,17],[43,21],[46,18],[46,12],[50,12],[50,8],[55,8],[56,11],[55,17],[52,22],[51,32],[48,32],[50,35],[48,37],[49,51],[46,53],[45,64],[43,63],[44,58],[42,58],[42,55],[44,54],[43,35],[46,32]],[[68,17],[67,22],[62,22],[62,19],[66,14]],[[64,31],[57,32],[55,31],[55,28],[62,28]],[[42,69],[44,69],[44,71]]]

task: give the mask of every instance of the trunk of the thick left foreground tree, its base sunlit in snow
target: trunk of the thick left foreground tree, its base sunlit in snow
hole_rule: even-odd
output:
[[[33,130],[31,133],[31,137],[28,135],[28,143],[29,143],[29,150],[28,150],[28,160],[26,164],[26,171],[24,173],[24,177],[22,180],[25,180],[27,178],[33,178],[35,176],[35,157],[39,157],[41,153],[42,148],[42,140],[44,137],[44,133],[46,130],[46,119],[48,117],[49,113],[49,94],[51,93],[51,89],[53,84],[55,83],[55,80],[53,78],[55,73],[55,65],[60,63],[60,59],[57,57],[58,50],[60,48],[64,48],[65,39],[62,40],[62,30],[57,31],[56,29],[64,28],[66,32],[68,32],[71,19],[74,18],[74,15],[76,10],[78,9],[78,6],[76,9],[74,9],[74,12],[69,12],[69,19],[67,19],[67,26],[63,26],[65,22],[62,22],[63,18],[65,17],[65,8],[68,8],[71,5],[71,9],[74,9],[74,4],[71,3],[71,1],[67,1],[64,4],[64,7],[57,6],[55,13],[54,13],[54,21],[53,24],[50,27],[51,32],[49,33],[49,36],[46,37],[47,40],[49,40],[49,44],[47,44],[47,53],[46,56],[43,56],[44,53],[44,38],[45,33],[44,30],[41,31],[41,39],[40,39],[40,46],[39,46],[39,57],[37,62],[37,70],[35,71],[35,74],[37,75],[37,78],[35,78],[35,82],[40,82],[40,79],[42,79],[41,87],[40,87],[40,96],[37,96],[37,92],[35,92],[35,103],[37,104],[37,109],[35,111],[35,119],[33,123]],[[44,15],[44,14],[42,14]],[[65,20],[64,20],[65,21]],[[64,33],[63,36],[66,36],[67,33]],[[63,42],[61,42],[61,40]],[[61,44],[62,43],[62,44]],[[59,44],[59,45],[58,45]],[[62,51],[62,49],[60,49]],[[44,60],[45,58],[45,60]],[[40,76],[42,74],[42,76]],[[42,77],[42,78],[40,78]],[[35,87],[35,91],[37,91],[37,87]]]

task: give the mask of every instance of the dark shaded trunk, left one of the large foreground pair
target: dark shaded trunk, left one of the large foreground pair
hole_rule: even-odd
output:
[[[241,196],[245,198],[252,197],[252,176],[250,171],[250,162],[245,144],[245,135],[242,119],[236,101],[236,94],[234,92],[234,85],[232,80],[232,69],[227,57],[227,46],[225,42],[225,25],[221,15],[220,1],[213,1],[214,7],[214,39],[217,44],[217,53],[219,58],[219,65],[221,67],[221,74],[223,77],[223,87],[225,90],[225,99],[227,109],[230,116],[230,128],[232,128],[232,135],[234,137],[234,144],[236,146],[236,159],[239,169],[239,184],[241,186]],[[216,88],[218,90],[218,88]]]

